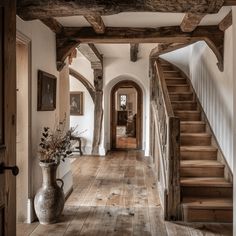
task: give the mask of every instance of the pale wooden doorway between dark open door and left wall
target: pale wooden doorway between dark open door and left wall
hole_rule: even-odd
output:
[[[20,169],[16,180],[16,219],[18,223],[28,221],[28,199],[30,192],[30,41],[17,33],[16,39],[16,88],[17,130],[16,164]]]

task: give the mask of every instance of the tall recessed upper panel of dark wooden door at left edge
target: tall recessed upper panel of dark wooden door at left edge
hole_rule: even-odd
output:
[[[3,9],[0,7],[0,149],[4,147]]]

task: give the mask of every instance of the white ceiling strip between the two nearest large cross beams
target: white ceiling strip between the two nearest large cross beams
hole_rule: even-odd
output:
[[[200,25],[216,25],[230,11],[231,7],[222,7],[217,14],[206,15]],[[102,16],[105,26],[110,27],[162,27],[180,25],[183,13],[159,12],[124,12],[120,14]],[[86,27],[90,24],[83,16],[69,16],[56,18],[63,26]]]

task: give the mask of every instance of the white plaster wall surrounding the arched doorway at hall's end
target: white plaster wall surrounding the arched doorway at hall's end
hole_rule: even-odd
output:
[[[149,58],[135,63],[129,58],[104,58],[104,122],[102,149],[110,149],[110,97],[112,87],[122,80],[133,80],[143,92],[143,150],[149,155]]]

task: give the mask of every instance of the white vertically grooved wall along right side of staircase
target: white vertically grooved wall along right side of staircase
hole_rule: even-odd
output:
[[[233,169],[233,41],[232,27],[225,33],[224,71],[203,43],[192,47],[190,78],[218,143]]]

